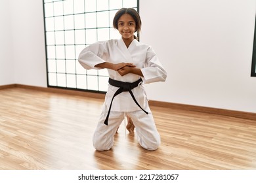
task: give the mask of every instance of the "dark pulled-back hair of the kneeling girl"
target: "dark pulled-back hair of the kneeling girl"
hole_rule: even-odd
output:
[[[138,33],[141,30],[141,20],[140,20],[140,15],[137,12],[137,10],[135,10],[134,8],[121,8],[116,12],[116,15],[113,19],[113,26],[115,29],[118,29],[118,20],[119,18],[123,15],[123,14],[129,14],[133,17],[133,19],[135,20],[135,32],[138,31]],[[137,37],[135,37],[137,39]]]

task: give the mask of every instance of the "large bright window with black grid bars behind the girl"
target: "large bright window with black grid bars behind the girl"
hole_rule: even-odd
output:
[[[106,92],[108,71],[85,70],[77,58],[93,42],[119,39],[114,15],[119,8],[138,6],[137,0],[44,0],[47,85]]]

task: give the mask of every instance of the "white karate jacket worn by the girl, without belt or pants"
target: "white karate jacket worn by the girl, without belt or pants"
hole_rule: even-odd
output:
[[[151,46],[143,44],[136,39],[131,42],[128,48],[123,39],[95,42],[81,51],[78,61],[85,69],[101,69],[95,67],[95,65],[108,61],[111,63],[133,63],[141,70],[143,77],[131,73],[121,76],[117,71],[108,69],[110,78],[122,82],[135,82],[141,77],[142,84],[148,84],[165,81],[167,77],[165,69],[163,69]],[[103,109],[106,112],[108,112],[110,102],[117,89],[115,86],[108,86]],[[134,88],[132,92],[142,108],[148,107],[146,92],[142,85]],[[120,93],[114,98],[111,111],[132,112],[135,110],[141,109],[135,104],[129,92]]]

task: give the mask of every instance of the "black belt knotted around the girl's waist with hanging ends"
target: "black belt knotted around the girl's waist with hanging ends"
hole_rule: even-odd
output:
[[[108,109],[108,115],[106,116],[106,120],[104,121],[105,125],[108,125],[108,117],[110,116],[112,102],[113,102],[114,97],[116,97],[116,95],[118,95],[122,92],[129,92],[131,94],[131,97],[133,97],[133,101],[135,101],[135,103],[140,107],[139,103],[135,99],[135,96],[133,95],[133,92],[131,92],[131,90],[133,90],[133,88],[136,88],[137,86],[140,86],[140,84],[142,83],[142,79],[140,78],[139,80],[137,80],[135,82],[121,82],[119,80],[113,80],[112,78],[109,78],[108,83],[112,86],[118,87],[119,89],[116,91],[116,93],[114,93],[114,95],[112,97],[112,101],[110,103],[110,108]],[[125,104],[123,104],[123,105],[125,105]],[[146,110],[144,110],[142,107],[140,107],[140,108],[146,114],[148,114],[148,112],[146,112]]]

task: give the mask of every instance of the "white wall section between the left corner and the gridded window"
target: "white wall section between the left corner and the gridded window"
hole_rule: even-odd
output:
[[[43,1],[11,0],[10,5],[15,82],[47,87]]]

